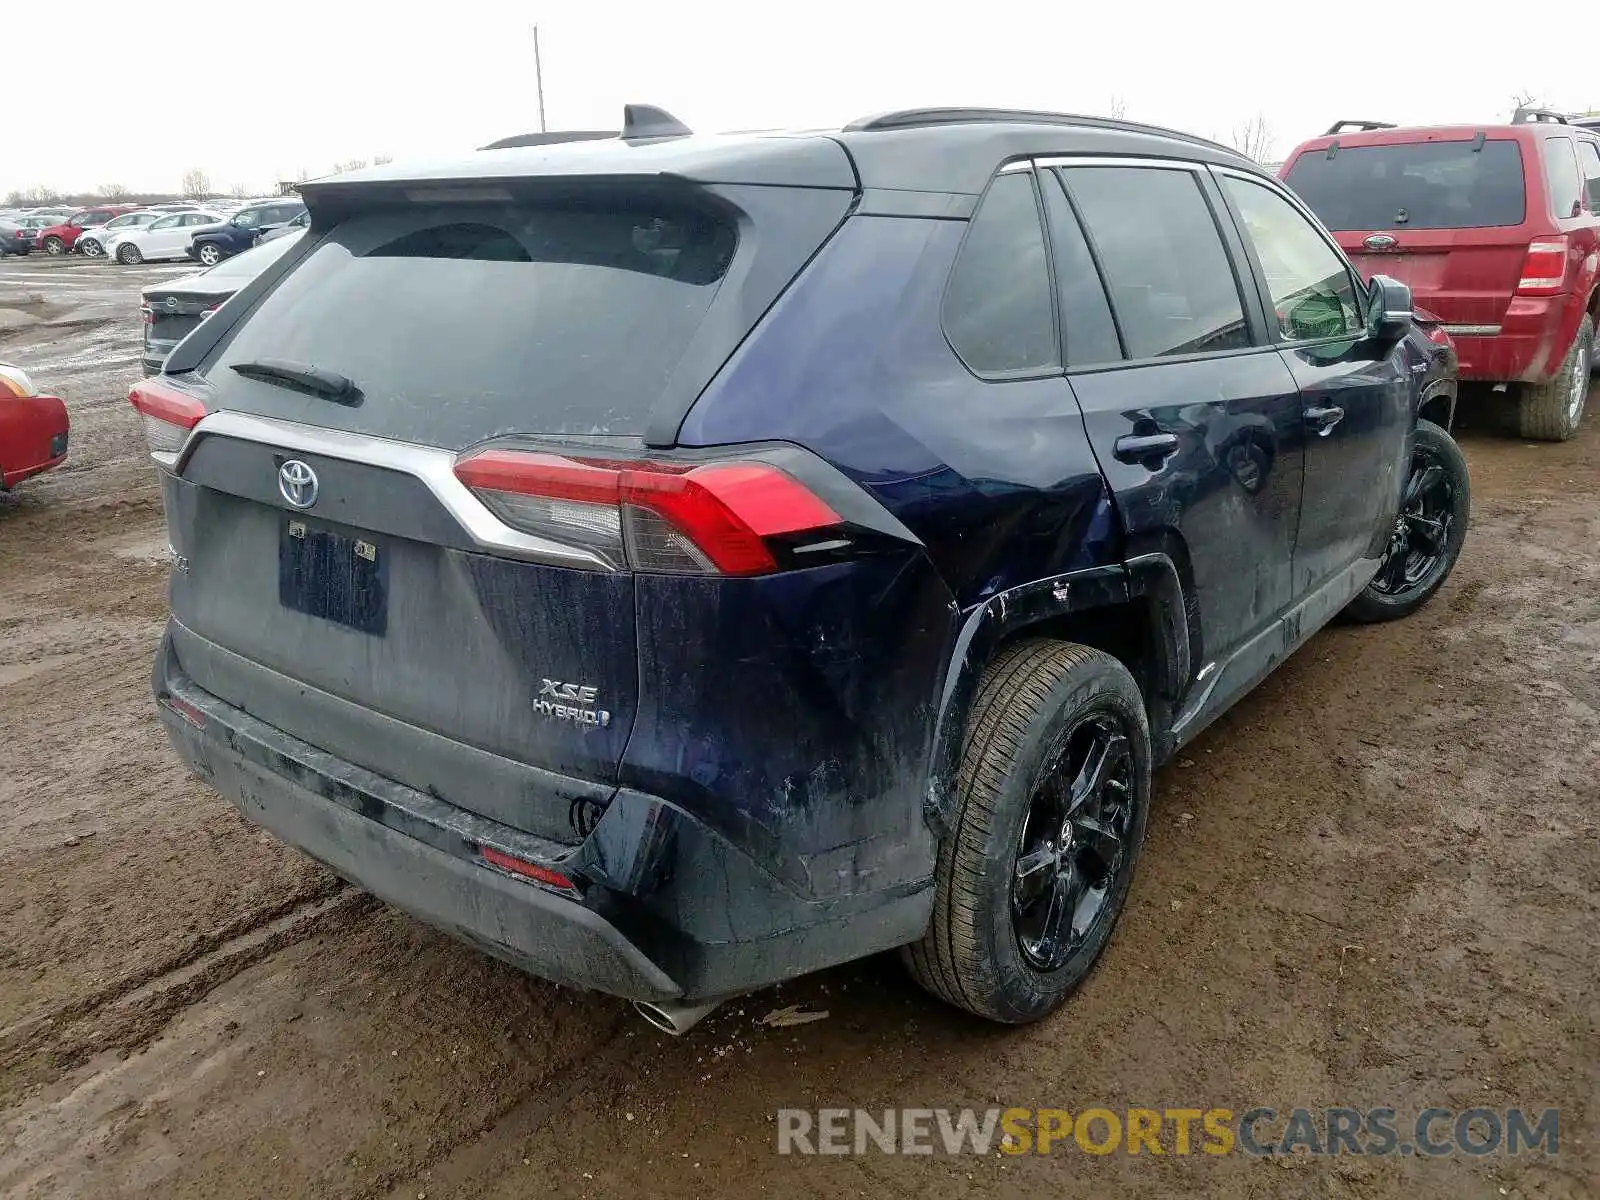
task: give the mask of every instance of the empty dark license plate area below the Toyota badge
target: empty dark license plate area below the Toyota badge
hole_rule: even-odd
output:
[[[290,518],[278,531],[278,603],[382,637],[389,630],[389,554],[368,534]]]

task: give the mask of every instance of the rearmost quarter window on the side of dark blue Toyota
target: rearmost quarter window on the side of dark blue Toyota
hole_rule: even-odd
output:
[[[944,331],[979,374],[1059,365],[1030,171],[998,176],[978,206],[944,293]]]

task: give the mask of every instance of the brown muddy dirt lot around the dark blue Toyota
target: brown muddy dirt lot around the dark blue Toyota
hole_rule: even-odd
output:
[[[1160,774],[1056,1019],[982,1027],[875,960],[674,1040],[342,888],[178,768],[123,400],[157,274],[0,266],[0,309],[82,322],[0,334],[74,421],[67,466],[0,498],[5,1195],[1600,1195],[1600,416],[1464,435],[1454,578],[1320,634]],[[829,1016],[755,1022],[786,1003]],[[994,1104],[1558,1106],[1560,1154],[774,1152],[779,1107]]]

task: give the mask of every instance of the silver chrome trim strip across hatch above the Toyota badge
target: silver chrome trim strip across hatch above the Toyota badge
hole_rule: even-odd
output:
[[[456,454],[435,446],[419,446],[411,442],[392,442],[366,434],[346,434],[338,429],[302,426],[294,421],[278,421],[248,413],[210,413],[184,442],[178,461],[171,466],[176,475],[184,474],[195,446],[205,437],[230,437],[238,442],[258,442],[301,454],[358,462],[366,467],[397,470],[421,480],[445,510],[466,530],[474,546],[509,558],[523,558],[554,566],[579,566],[589,571],[616,568],[594,550],[566,546],[549,538],[522,533],[506,525],[483,507],[472,490],[456,478]]]

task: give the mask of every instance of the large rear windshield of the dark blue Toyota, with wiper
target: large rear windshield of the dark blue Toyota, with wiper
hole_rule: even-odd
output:
[[[661,200],[448,205],[336,226],[206,370],[286,358],[338,371],[362,416],[440,445],[502,432],[642,434],[734,251]]]

